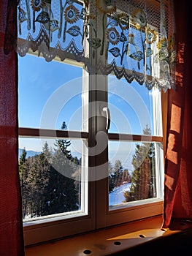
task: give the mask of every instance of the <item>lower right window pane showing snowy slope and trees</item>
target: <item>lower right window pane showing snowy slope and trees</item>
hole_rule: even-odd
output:
[[[138,200],[161,198],[159,148],[160,143],[110,141],[110,208]]]

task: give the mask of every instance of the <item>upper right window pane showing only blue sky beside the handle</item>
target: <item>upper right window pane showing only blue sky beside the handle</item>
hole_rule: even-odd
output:
[[[111,114],[109,132],[145,135],[148,128],[150,135],[158,135],[155,129],[155,111],[153,90],[137,82],[128,84],[125,80],[118,80],[109,76],[108,101]],[[161,116],[161,112],[158,113]],[[160,119],[159,119],[160,120]],[[161,125],[161,121],[159,122]]]

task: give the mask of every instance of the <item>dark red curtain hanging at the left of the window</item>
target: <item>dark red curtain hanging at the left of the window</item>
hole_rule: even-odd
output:
[[[18,176],[18,57],[12,44],[17,32],[17,1],[0,1],[0,255],[23,256],[23,222]],[[8,15],[9,14],[9,15]],[[7,31],[7,32],[6,32]],[[6,34],[6,36],[5,36]],[[4,53],[4,50],[6,54]]]

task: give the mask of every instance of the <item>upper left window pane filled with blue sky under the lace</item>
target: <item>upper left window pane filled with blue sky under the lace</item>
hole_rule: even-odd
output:
[[[19,59],[19,126],[82,130],[82,68],[26,55]]]

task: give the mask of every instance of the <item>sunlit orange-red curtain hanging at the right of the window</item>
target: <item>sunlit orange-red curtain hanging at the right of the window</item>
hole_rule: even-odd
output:
[[[191,0],[174,1],[177,89],[169,91],[164,227],[174,219],[192,219],[191,8]]]

